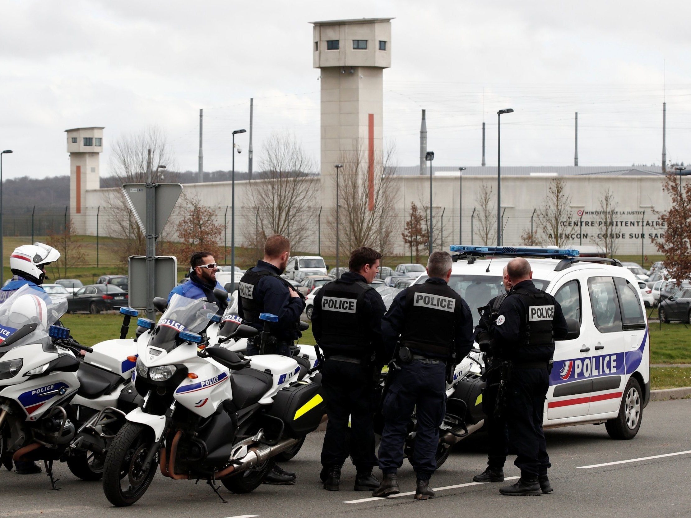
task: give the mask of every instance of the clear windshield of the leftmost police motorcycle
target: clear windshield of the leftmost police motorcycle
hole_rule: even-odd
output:
[[[27,343],[39,343],[48,337],[48,328],[67,311],[67,299],[51,296],[41,289],[24,285],[0,305],[0,349],[7,351]],[[10,337],[36,328],[19,339]]]

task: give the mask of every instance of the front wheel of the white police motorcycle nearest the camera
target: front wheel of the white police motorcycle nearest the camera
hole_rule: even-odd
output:
[[[158,468],[158,455],[147,468],[144,459],[153,447],[151,428],[125,423],[106,453],[103,468],[103,492],[113,506],[131,506],[146,492]]]

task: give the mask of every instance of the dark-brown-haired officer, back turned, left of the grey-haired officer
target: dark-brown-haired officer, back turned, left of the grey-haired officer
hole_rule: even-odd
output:
[[[352,461],[357,469],[355,491],[379,486],[372,474],[375,456],[375,374],[382,356],[381,317],[386,306],[370,282],[379,271],[381,253],[361,247],[350,253],[341,278],[329,282],[314,297],[312,332],[322,349],[321,367],[328,424],[321,449],[324,489],[337,491],[341,467],[348,457],[348,416]],[[379,366],[379,370],[381,367]],[[377,376],[378,380],[378,376]]]

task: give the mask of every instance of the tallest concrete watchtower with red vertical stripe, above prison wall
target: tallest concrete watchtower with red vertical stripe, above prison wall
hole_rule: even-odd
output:
[[[370,186],[381,160],[383,71],[391,66],[392,18],[314,21],[314,68],[321,68],[322,203],[335,201],[334,164],[359,151]],[[372,210],[370,193],[370,210]]]

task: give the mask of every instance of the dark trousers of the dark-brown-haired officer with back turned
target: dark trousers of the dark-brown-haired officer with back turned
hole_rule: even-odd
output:
[[[321,448],[321,465],[341,467],[351,454],[358,472],[371,470],[377,466],[372,367],[327,358],[321,375],[329,418]]]

